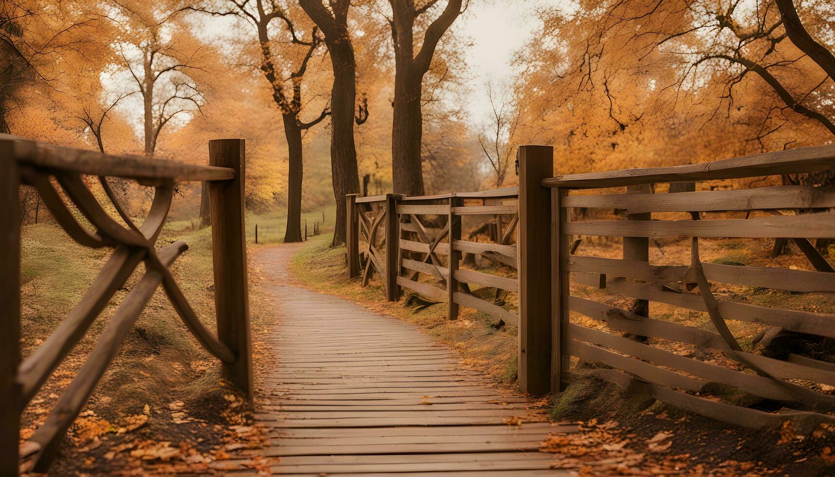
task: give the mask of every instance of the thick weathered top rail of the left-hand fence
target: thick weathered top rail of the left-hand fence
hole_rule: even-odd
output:
[[[50,145],[0,134],[8,145],[7,157],[38,168],[137,180],[232,180],[235,170],[225,166],[191,165],[145,155],[109,155],[99,151]]]

